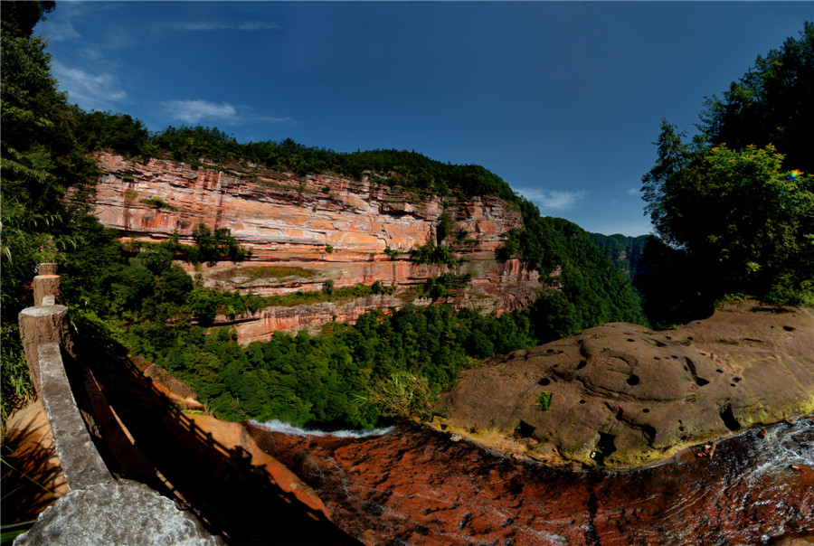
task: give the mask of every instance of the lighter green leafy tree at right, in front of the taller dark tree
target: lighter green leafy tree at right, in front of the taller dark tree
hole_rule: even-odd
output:
[[[814,177],[783,172],[773,146],[686,145],[668,124],[658,146],[644,178],[650,218],[705,293],[814,302]]]

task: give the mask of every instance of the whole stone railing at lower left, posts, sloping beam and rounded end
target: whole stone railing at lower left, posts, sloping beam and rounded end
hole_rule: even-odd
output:
[[[220,544],[194,514],[147,485],[114,479],[77,405],[66,363],[75,363],[68,307],[60,304],[57,264],[41,264],[34,306],[18,317],[25,358],[52,428],[71,493],[40,514],[14,544]],[[66,358],[63,358],[65,356]]]

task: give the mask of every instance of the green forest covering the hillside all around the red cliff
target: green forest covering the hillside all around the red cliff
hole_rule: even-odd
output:
[[[8,7],[7,7],[8,6]],[[644,323],[629,283],[568,221],[543,218],[496,174],[396,150],[338,154],[290,140],[239,144],[216,128],[167,127],[150,134],[125,114],[84,112],[56,92],[45,43],[33,37],[41,6],[3,9],[3,403],[30,392],[15,326],[32,304],[37,263],[58,261],[62,290],[84,343],[120,365],[126,353],[152,359],[188,381],[215,415],[288,419],[298,424],[374,426],[422,415],[428,401],[478,359],[539,344],[607,321]],[[198,226],[193,245],[177,240],[122,245],[82,204],[99,175],[90,154],[109,149],[197,164],[253,163],[294,174],[362,175],[417,195],[497,195],[519,207],[524,228],[508,234],[502,258],[540,267],[553,289],[534,306],[500,317],[446,306],[407,306],[329,324],[309,336],[276,334],[241,348],[228,328],[207,328],[213,312],[275,305],[251,295],[202,287],[179,261],[240,260],[228,231]],[[71,189],[71,197],[66,190]],[[432,250],[432,256],[438,248]],[[421,259],[416,249],[413,259]],[[446,249],[450,253],[450,249]],[[432,256],[427,259],[431,259]],[[551,276],[551,277],[548,277]],[[454,277],[432,279],[428,294]],[[354,287],[358,291],[381,286]],[[327,290],[319,297],[342,297]],[[107,355],[107,357],[103,357]]]

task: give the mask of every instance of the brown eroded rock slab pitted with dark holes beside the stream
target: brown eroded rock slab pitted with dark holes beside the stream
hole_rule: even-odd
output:
[[[437,426],[506,454],[655,462],[814,411],[814,313],[746,302],[672,331],[592,328],[463,372],[439,409]]]

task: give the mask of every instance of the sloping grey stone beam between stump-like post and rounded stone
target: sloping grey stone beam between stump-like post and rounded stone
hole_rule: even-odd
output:
[[[53,444],[71,491],[113,479],[93,445],[76,405],[58,344],[39,346],[40,396],[51,423]]]

